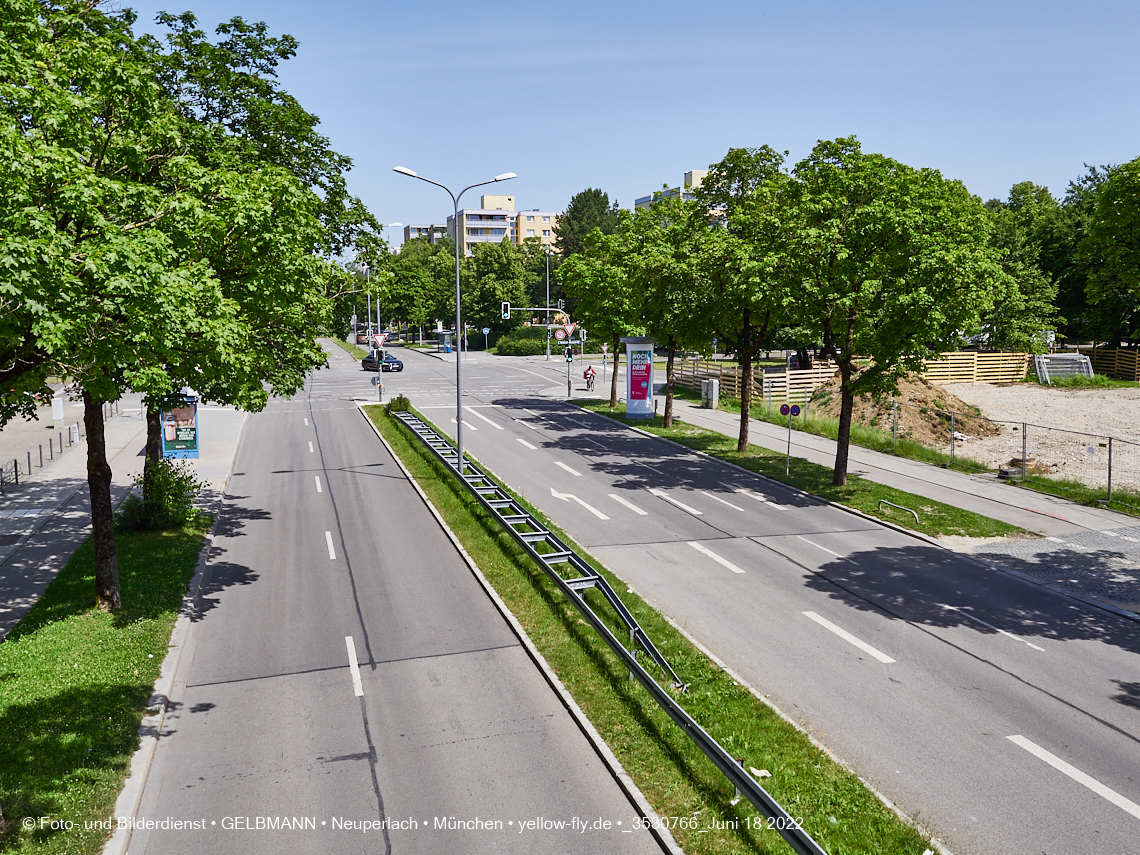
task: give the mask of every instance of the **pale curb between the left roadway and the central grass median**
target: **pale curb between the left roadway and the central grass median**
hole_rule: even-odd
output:
[[[431,499],[427,498],[427,495],[416,482],[415,478],[413,478],[412,473],[408,472],[407,467],[404,465],[404,461],[401,461],[400,457],[392,449],[392,447],[388,445],[388,440],[385,440],[384,437],[381,434],[380,429],[376,427],[375,424],[373,424],[373,421],[364,412],[365,405],[363,405],[359,401],[356,401],[356,404],[357,404],[357,409],[360,410],[360,415],[368,423],[368,426],[372,427],[373,432],[376,434],[376,438],[384,443],[384,448],[386,448],[388,453],[392,455],[392,459],[394,459],[397,465],[399,465],[400,471],[404,472],[404,477],[407,478],[408,482],[413,486],[413,488],[415,488],[415,491],[420,495],[421,500],[424,503],[424,505],[426,505],[427,510],[431,511],[432,515],[435,518],[435,521],[439,523],[440,528],[447,534],[448,538],[451,540],[451,544],[463,556],[463,560],[466,562],[467,568],[471,570],[471,573],[479,581],[480,586],[483,588],[483,592],[495,604],[495,608],[498,609],[499,613],[503,616],[503,619],[506,620],[507,625],[511,627],[511,630],[519,638],[523,649],[527,651],[527,654],[530,657],[531,661],[537,666],[539,673],[546,679],[547,685],[549,685],[549,687],[554,691],[555,695],[562,702],[562,706],[570,714],[571,718],[573,718],[575,723],[578,725],[578,728],[581,731],[583,735],[586,736],[586,741],[591,743],[591,747],[593,747],[598,758],[602,760],[603,764],[605,764],[605,767],[610,771],[610,774],[617,781],[618,787],[622,790],[622,792],[626,793],[626,797],[633,803],[633,806],[642,813],[643,816],[654,820],[660,819],[657,811],[654,811],[653,807],[649,804],[649,800],[645,798],[644,793],[642,793],[637,784],[634,783],[633,779],[629,777],[629,774],[625,771],[625,767],[622,767],[621,762],[617,758],[617,756],[613,754],[610,747],[605,743],[605,740],[602,739],[602,735],[594,728],[594,725],[586,717],[586,714],[583,712],[581,707],[579,707],[577,701],[575,701],[573,695],[570,694],[565,685],[563,685],[562,681],[559,678],[557,674],[555,674],[554,669],[551,668],[549,663],[546,661],[546,658],[542,654],[542,652],[539,652],[538,648],[535,646],[535,643],[530,640],[530,636],[527,635],[527,630],[519,622],[519,619],[514,617],[514,613],[507,608],[506,603],[503,602],[503,598],[498,595],[498,592],[496,592],[495,588],[491,586],[491,584],[487,580],[487,577],[483,576],[482,571],[475,564],[474,560],[471,557],[471,555],[467,554],[467,551],[463,548],[463,544],[459,543],[459,538],[456,537],[454,531],[451,531],[451,528],[447,524],[447,521],[443,520],[439,511],[437,511],[435,506],[431,503]],[[376,406],[376,405],[368,405],[368,406]],[[663,823],[657,823],[656,825],[651,826],[650,833],[652,833],[653,837],[657,838],[658,842],[661,845],[661,848],[665,852],[669,853],[669,855],[685,855],[684,850],[673,839],[673,836],[668,832],[667,829],[663,828]]]

